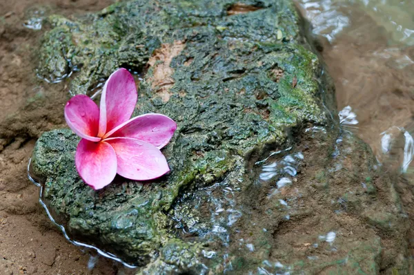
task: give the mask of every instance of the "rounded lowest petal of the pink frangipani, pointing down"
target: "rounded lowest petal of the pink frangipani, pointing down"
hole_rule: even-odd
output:
[[[117,175],[117,155],[106,142],[82,139],[76,149],[75,164],[79,176],[95,190],[106,187]]]

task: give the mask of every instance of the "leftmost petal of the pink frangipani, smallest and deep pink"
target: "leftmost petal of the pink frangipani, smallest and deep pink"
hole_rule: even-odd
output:
[[[75,95],[65,106],[66,123],[79,137],[92,142],[99,142],[97,138],[99,128],[99,108],[86,95]]]

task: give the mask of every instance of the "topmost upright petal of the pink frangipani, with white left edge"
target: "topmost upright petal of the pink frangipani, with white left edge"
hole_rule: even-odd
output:
[[[135,80],[128,70],[120,68],[110,75],[101,95],[98,137],[129,120],[137,97]]]

